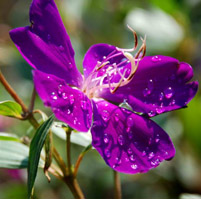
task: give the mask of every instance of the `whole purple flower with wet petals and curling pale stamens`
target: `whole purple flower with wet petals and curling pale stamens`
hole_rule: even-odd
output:
[[[92,145],[119,172],[146,172],[174,156],[169,136],[148,118],[185,107],[194,97],[198,83],[188,83],[189,64],[161,55],[142,59],[144,43],[135,57],[96,44],[84,57],[82,76],[54,1],[33,0],[30,22],[10,36],[35,69],[39,96],[59,120],[78,131],[90,129]]]

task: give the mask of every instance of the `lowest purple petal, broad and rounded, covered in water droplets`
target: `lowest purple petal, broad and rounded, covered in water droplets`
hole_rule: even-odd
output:
[[[114,170],[147,172],[175,155],[174,146],[152,120],[106,101],[94,101],[92,145]]]

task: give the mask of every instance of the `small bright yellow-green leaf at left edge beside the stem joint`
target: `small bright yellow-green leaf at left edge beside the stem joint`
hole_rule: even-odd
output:
[[[21,106],[13,101],[0,102],[0,115],[21,118],[22,108]]]

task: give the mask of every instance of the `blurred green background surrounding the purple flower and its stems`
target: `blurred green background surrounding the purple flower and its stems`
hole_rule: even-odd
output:
[[[33,88],[31,67],[23,60],[8,32],[29,25],[30,0],[0,0],[0,67],[10,84],[28,104]],[[56,0],[82,71],[86,50],[95,43],[121,48],[133,46],[129,24],[138,36],[147,36],[147,55],[163,54],[190,63],[194,80],[201,80],[201,0]],[[172,138],[176,156],[145,174],[121,174],[125,199],[176,199],[183,193],[201,194],[201,100],[200,89],[188,108],[157,116],[154,120]],[[0,85],[0,101],[11,99]],[[39,98],[35,108],[47,114]],[[0,131],[25,135],[28,122],[0,117]],[[54,138],[65,152],[65,142]],[[72,145],[72,159],[83,148]],[[26,198],[26,170],[0,169],[0,198]],[[78,180],[88,199],[113,198],[113,172],[92,150],[84,158]],[[72,198],[68,188],[52,177],[51,183],[39,170],[36,199]],[[190,197],[187,197],[190,199]]]

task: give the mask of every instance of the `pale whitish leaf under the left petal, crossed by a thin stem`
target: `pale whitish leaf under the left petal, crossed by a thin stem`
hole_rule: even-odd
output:
[[[60,126],[60,123],[54,122],[54,125],[52,125],[52,132],[61,139],[66,140],[66,132]],[[71,133],[70,141],[74,144],[87,147],[92,142],[91,133],[90,131],[87,133],[73,131]]]

